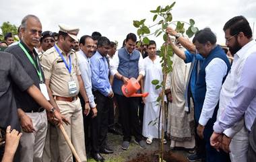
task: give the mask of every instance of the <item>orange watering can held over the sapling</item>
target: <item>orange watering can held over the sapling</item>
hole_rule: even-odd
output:
[[[127,85],[124,84],[122,86],[123,95],[125,95],[125,97],[147,97],[148,96],[148,92],[136,93],[136,91],[139,89],[140,89],[139,82],[137,82],[137,80],[134,77],[131,77],[128,80]]]

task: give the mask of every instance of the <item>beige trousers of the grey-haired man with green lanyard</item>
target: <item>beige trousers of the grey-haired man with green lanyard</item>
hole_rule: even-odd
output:
[[[36,131],[28,133],[22,130],[22,137],[20,138],[20,161],[41,162],[47,132],[46,111],[26,113],[26,115],[31,118]]]

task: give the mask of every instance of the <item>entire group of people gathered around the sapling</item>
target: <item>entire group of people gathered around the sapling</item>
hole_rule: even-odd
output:
[[[115,123],[115,106],[123,130],[121,148],[128,150],[134,136],[134,142],[146,149],[146,143],[150,145],[158,138],[158,124],[166,122],[149,124],[159,116],[156,99],[163,91],[151,83],[163,79],[156,42],[151,40],[142,55],[135,49],[137,37],[133,33],[116,51],[117,45],[98,32],[78,40],[79,28],[64,24],[59,28],[55,38],[53,32],[42,32],[38,17],[26,15],[19,28],[20,41],[0,53],[0,128],[11,125],[22,132],[14,161],[73,161],[60,125],[81,161],[87,161],[86,153],[104,161],[102,153],[114,152],[108,146],[107,132]],[[234,56],[232,66],[210,28],[199,30],[193,42],[172,28],[166,30],[176,38],[176,44],[168,42],[175,55],[191,63],[187,68],[175,58],[173,66],[183,66],[182,70],[174,68],[167,83],[170,86],[164,89],[171,103],[167,128],[170,145],[196,146],[189,161],[241,162],[256,158],[256,75],[252,70],[256,42],[243,16],[230,19],[223,30]],[[142,92],[150,93],[148,97],[123,94],[121,87],[131,77],[141,83]],[[138,116],[141,101],[145,104],[143,126]],[[1,157],[3,151],[1,147]]]

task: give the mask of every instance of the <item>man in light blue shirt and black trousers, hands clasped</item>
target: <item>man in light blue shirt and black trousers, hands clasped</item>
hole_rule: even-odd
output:
[[[92,119],[92,156],[96,161],[104,161],[100,153],[113,153],[106,145],[108,132],[108,106],[114,96],[108,80],[109,66],[106,55],[110,50],[110,41],[102,36],[98,40],[97,51],[91,58],[92,89],[96,97],[98,116]]]

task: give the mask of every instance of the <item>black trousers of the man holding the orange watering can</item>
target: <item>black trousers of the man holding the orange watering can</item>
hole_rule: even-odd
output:
[[[134,135],[136,140],[142,140],[138,116],[139,97],[125,97],[117,94],[115,96],[121,115],[123,141],[131,141],[131,135]]]

